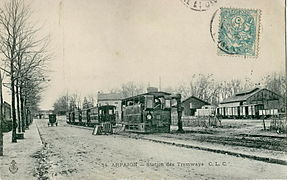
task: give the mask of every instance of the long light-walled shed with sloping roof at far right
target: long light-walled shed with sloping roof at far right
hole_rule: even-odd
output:
[[[219,104],[217,113],[226,118],[258,118],[261,110],[282,108],[282,96],[265,88],[236,93]]]

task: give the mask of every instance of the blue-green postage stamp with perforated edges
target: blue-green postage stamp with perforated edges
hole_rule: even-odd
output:
[[[218,54],[258,56],[260,10],[221,8]]]

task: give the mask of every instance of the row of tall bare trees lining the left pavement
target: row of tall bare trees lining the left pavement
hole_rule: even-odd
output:
[[[10,90],[12,142],[17,142],[17,127],[18,132],[29,127],[28,115],[38,109],[43,82],[47,81],[48,40],[39,38],[39,30],[31,22],[31,11],[24,1],[9,0],[1,7],[0,92],[2,85]],[[0,95],[3,117],[3,94]]]

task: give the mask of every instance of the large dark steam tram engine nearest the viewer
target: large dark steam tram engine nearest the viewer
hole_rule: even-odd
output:
[[[125,131],[137,133],[170,132],[171,108],[177,96],[148,92],[122,100]]]

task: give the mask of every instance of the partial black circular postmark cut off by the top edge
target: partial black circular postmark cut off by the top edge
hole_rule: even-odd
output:
[[[217,3],[217,0],[180,0],[186,7],[194,11],[206,11]]]

